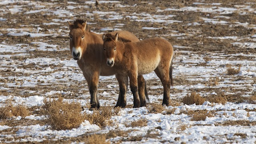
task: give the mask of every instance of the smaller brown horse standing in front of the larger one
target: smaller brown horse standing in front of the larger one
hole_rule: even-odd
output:
[[[113,34],[113,33],[112,33]],[[118,74],[128,76],[134,98],[134,107],[140,105],[137,77],[141,74],[156,72],[164,87],[162,105],[169,105],[172,80],[172,45],[162,38],[149,38],[139,42],[122,42],[118,35],[103,34],[102,39],[107,66]]]

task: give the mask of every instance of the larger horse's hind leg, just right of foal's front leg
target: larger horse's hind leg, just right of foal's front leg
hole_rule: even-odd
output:
[[[145,80],[142,74],[138,75],[138,92],[140,97],[140,107],[146,106]]]

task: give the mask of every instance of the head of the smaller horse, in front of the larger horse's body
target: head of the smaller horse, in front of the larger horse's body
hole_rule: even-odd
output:
[[[103,49],[104,49],[104,56],[107,61],[107,65],[109,67],[114,66],[115,59],[116,59],[116,42],[118,39],[118,33],[116,33],[115,36],[113,36],[110,33],[103,34]]]

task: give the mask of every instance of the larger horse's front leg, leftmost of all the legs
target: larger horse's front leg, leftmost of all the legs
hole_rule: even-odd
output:
[[[94,110],[94,108],[100,108],[100,102],[97,96],[97,88],[99,82],[100,72],[94,72],[90,78],[89,91],[91,95],[90,104],[91,107],[89,110]]]

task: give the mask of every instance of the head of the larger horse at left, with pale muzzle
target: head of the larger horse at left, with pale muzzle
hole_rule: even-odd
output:
[[[88,30],[86,30],[86,23],[84,20],[77,19],[74,24],[68,22],[68,27],[70,29],[70,51],[74,60],[80,60],[82,57],[82,52],[86,48],[85,35]]]

